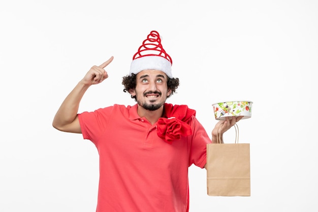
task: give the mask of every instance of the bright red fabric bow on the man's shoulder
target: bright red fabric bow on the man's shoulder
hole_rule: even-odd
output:
[[[196,111],[186,105],[172,105],[165,103],[165,117],[161,117],[157,122],[157,135],[167,143],[172,144],[173,140],[180,139],[181,136],[192,135],[191,127],[186,124],[190,117],[196,115]]]

